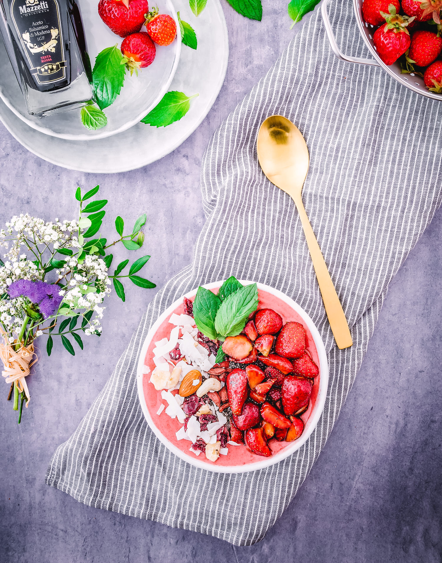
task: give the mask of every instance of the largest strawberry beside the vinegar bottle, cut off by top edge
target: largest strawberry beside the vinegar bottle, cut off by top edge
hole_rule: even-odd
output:
[[[100,0],[98,3],[101,19],[120,37],[139,32],[148,11],[147,0]]]

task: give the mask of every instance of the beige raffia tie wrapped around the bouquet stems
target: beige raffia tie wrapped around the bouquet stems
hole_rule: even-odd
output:
[[[0,342],[0,360],[4,365],[2,376],[5,378],[4,381],[6,383],[17,382],[16,385],[19,392],[25,392],[26,408],[28,408],[31,397],[25,377],[29,376],[30,368],[37,361],[37,358],[32,361],[35,354],[34,345],[30,343],[28,346],[21,346],[20,350],[15,351],[16,344],[7,344],[8,337],[2,328],[0,328],[0,333],[3,337],[3,342]]]

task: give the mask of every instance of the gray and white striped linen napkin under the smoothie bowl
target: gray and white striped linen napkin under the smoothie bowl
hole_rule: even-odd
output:
[[[369,56],[351,0],[331,19],[343,51]],[[339,30],[345,30],[339,32]],[[310,149],[303,197],[351,327],[339,350],[294,203],[256,158],[260,123],[282,114]],[[319,12],[215,132],[201,190],[208,217],[190,266],[147,308],[101,394],[60,445],[46,482],[106,510],[199,531],[238,546],[262,539],[308,475],[358,372],[390,280],[441,203],[442,104],[379,68],[335,59]],[[229,475],[192,467],[162,445],[138,402],[136,367],[148,329],[199,284],[234,274],[286,293],[322,335],[330,362],[323,415],[296,453],[266,470]]]

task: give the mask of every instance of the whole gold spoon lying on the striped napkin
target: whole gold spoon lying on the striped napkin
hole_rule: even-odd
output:
[[[309,169],[309,151],[304,137],[287,118],[271,115],[259,129],[256,149],[265,176],[295,202],[333,336],[338,348],[348,348],[353,344],[349,326],[301,197]]]

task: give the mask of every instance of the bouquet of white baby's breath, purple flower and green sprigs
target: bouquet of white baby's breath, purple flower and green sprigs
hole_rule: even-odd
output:
[[[8,251],[4,262],[0,260],[0,360],[4,364],[2,376],[11,384],[7,398],[11,400],[13,395],[13,410],[19,410],[19,423],[23,403],[28,407],[30,400],[25,378],[37,361],[34,359],[36,338],[46,334],[50,356],[53,338],[60,337],[63,346],[74,356],[69,336],[83,350],[81,334],[101,334],[100,320],[105,309],[102,303],[111,291],[111,279],[123,301],[124,286],[120,278],[129,278],[139,287],[156,287],[135,275],[150,256],[138,258],[125,275],[122,272],[129,259],[124,260],[114,275],[109,275],[113,256],[106,254],[106,249],[117,243],[128,250],[141,248],[146,215],[137,219],[130,234],[124,234],[124,221],[117,217],[115,228],[119,238],[107,244],[99,233],[107,200],[85,203],[99,189],[96,186],[82,195],[77,188],[78,219],[60,222],[56,218],[55,222],[45,222],[26,213],[12,217],[6,231],[0,231],[0,246]]]

